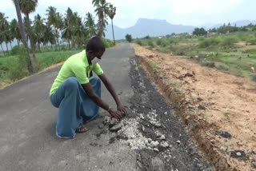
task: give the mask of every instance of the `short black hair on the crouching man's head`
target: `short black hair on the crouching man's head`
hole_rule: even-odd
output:
[[[91,38],[86,46],[86,51],[88,52],[90,50],[93,52],[105,52],[106,48],[102,39],[98,37]]]

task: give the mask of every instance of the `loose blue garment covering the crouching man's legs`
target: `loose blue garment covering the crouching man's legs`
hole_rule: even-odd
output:
[[[101,97],[101,81],[91,78],[90,84],[94,93]],[[52,105],[58,108],[56,135],[61,138],[73,138],[76,129],[84,122],[98,115],[98,105],[90,100],[77,78],[68,78],[50,96]]]

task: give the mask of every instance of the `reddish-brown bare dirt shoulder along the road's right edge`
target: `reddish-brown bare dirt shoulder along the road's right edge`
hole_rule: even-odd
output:
[[[180,56],[134,50],[219,170],[256,169],[254,82]]]

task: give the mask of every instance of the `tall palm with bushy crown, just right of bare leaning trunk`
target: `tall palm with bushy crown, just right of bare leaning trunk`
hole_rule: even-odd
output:
[[[30,38],[30,46],[34,58],[34,62],[36,64],[36,67],[38,69],[38,60],[35,58],[35,52],[34,52],[34,40],[32,38],[32,29],[30,25],[30,13],[34,12],[35,8],[38,6],[38,0],[19,0],[19,6],[21,8],[21,11],[23,14],[26,15],[26,22],[28,26],[28,34]]]

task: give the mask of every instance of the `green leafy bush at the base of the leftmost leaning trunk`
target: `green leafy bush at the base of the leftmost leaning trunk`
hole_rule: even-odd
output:
[[[18,50],[18,57],[14,57],[8,62],[8,78],[15,81],[24,78],[28,74],[28,71],[26,69],[26,58],[27,55],[25,47],[20,47]]]

